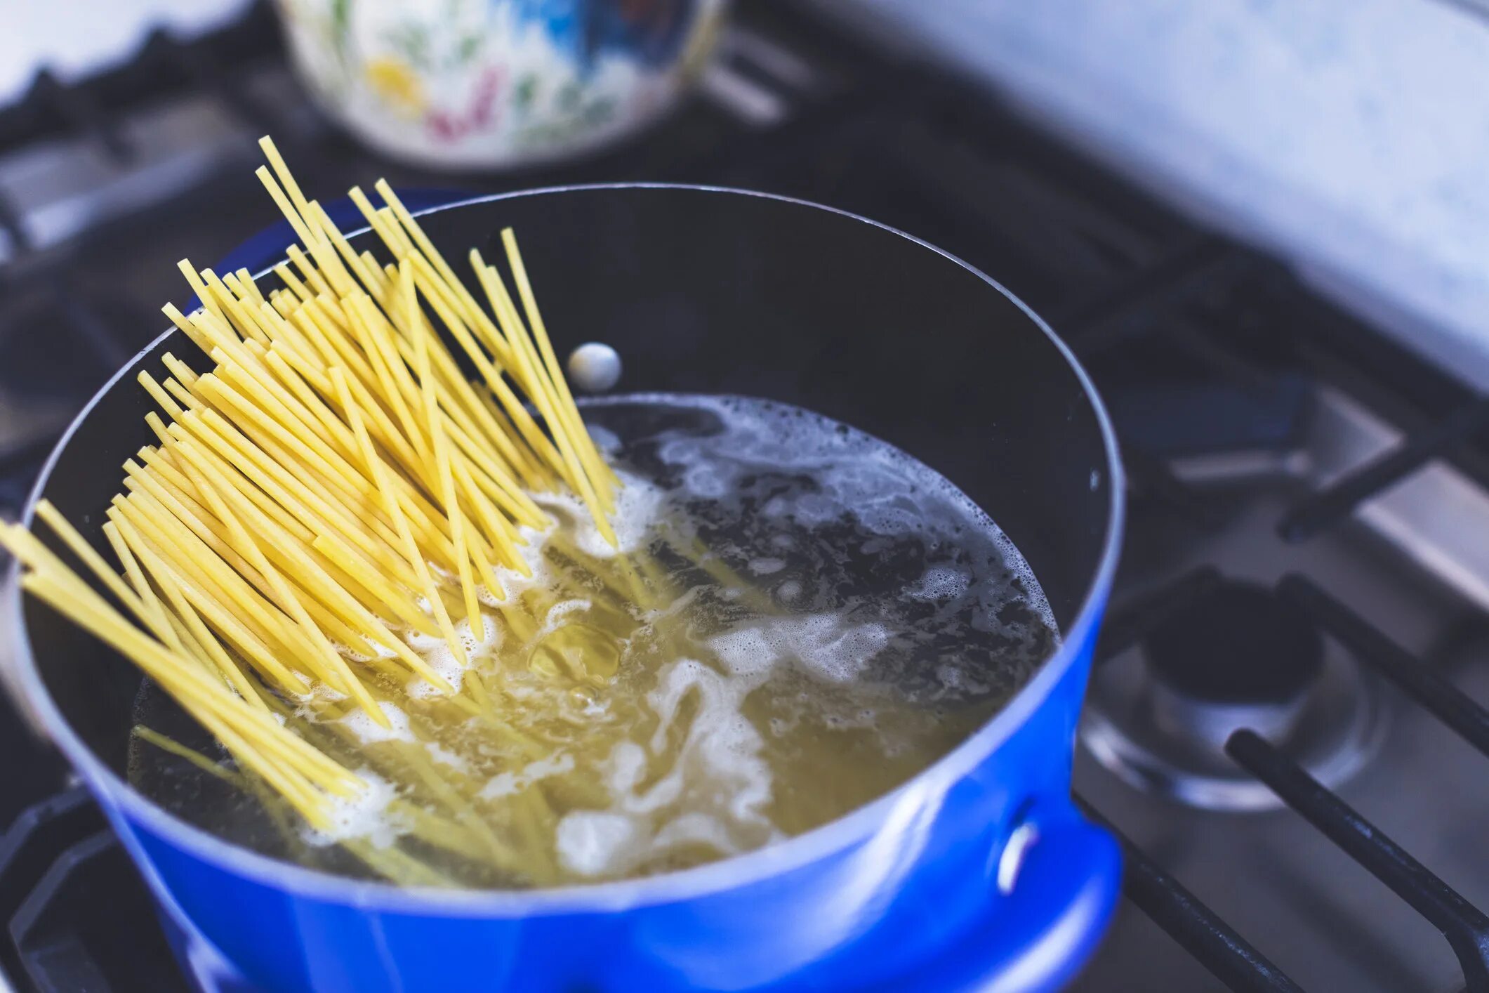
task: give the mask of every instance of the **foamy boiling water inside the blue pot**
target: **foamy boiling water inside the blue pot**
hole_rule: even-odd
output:
[[[1027,564],[905,454],[746,399],[585,408],[625,487],[610,549],[582,508],[530,536],[471,679],[383,686],[384,729],[301,701],[298,731],[374,789],[308,832],[243,777],[135,740],[131,777],[228,838],[404,883],[549,886],[660,872],[807,831],[954,747],[1053,651]],[[451,603],[459,615],[459,604]],[[287,707],[289,710],[289,707]],[[140,724],[220,759],[162,694]]]

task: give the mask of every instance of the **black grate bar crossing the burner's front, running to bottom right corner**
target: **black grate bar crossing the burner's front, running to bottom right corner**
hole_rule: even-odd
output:
[[[1225,752],[1432,922],[1458,956],[1468,990],[1489,993],[1489,917],[1483,911],[1255,731],[1236,731],[1225,743]]]

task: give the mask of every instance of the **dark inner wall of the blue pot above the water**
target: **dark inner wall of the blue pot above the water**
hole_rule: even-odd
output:
[[[557,191],[423,223],[457,271],[471,247],[497,258],[514,226],[558,353],[613,345],[621,392],[783,400],[916,456],[992,515],[1057,622],[1074,621],[1109,526],[1102,432],[1060,350],[978,274],[855,217],[719,191]],[[162,351],[198,357],[176,332],[138,363]],[[153,444],[149,409],[133,371],[121,377],[46,479],[101,549],[121,464]],[[138,671],[46,606],[24,612],[48,691],[122,774]]]

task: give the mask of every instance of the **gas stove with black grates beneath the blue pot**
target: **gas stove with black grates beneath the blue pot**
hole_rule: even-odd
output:
[[[460,185],[783,192],[1005,283],[1093,372],[1133,497],[1075,768],[1126,899],[1075,989],[1489,990],[1489,400],[996,95],[740,7],[654,131]],[[319,118],[264,6],[0,109],[0,514],[185,302],[176,259],[265,223],[264,132],[314,189],[451,185]],[[97,808],[0,727],[0,989],[188,989]]]

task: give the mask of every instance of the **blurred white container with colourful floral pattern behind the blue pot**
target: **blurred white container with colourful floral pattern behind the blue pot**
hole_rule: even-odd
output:
[[[322,107],[435,168],[576,155],[642,128],[701,70],[728,0],[278,0]]]

